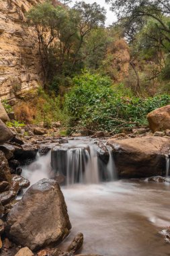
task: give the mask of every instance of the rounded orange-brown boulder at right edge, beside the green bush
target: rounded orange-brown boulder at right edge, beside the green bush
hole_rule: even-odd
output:
[[[153,110],[147,115],[147,119],[153,132],[170,129],[170,105]]]

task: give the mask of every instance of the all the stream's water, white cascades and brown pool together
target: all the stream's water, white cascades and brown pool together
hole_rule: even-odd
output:
[[[66,248],[77,232],[85,242],[81,253],[105,256],[170,255],[170,245],[159,231],[170,226],[169,183],[116,181],[114,156],[110,148],[107,164],[97,157],[94,141],[72,141],[50,153],[37,156],[23,175],[31,183],[65,172],[62,186],[73,228],[60,245]],[[101,171],[110,182],[102,182]],[[167,159],[167,172],[169,162]],[[107,179],[106,179],[107,181]]]

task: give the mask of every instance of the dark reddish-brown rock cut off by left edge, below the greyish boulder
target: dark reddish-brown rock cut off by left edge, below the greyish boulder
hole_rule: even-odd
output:
[[[0,182],[1,181],[11,181],[11,172],[9,170],[9,165],[4,153],[0,150]]]

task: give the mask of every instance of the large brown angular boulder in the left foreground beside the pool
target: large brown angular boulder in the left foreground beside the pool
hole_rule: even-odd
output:
[[[69,234],[71,223],[65,198],[54,180],[32,185],[7,219],[7,235],[32,251],[57,244]]]

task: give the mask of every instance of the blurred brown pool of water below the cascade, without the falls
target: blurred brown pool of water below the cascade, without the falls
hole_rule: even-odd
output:
[[[159,231],[170,226],[170,187],[115,181],[62,187],[73,229],[66,248],[83,232],[81,253],[105,256],[170,255]]]

